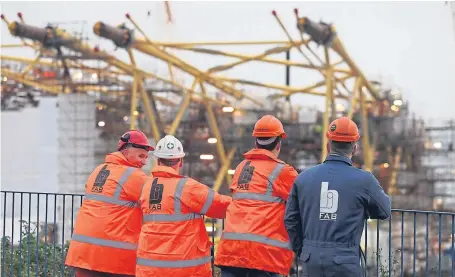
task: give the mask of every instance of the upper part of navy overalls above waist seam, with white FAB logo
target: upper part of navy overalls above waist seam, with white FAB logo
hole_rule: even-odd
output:
[[[387,206],[377,206],[388,197],[374,176],[351,166],[348,158],[329,156],[299,175],[296,184],[305,240],[358,245],[368,212],[374,218],[389,215]]]

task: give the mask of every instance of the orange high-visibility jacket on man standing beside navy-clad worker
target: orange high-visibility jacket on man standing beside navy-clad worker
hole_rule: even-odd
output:
[[[289,274],[293,252],[284,212],[297,171],[270,151],[253,149],[236,168],[232,204],[215,264]]]

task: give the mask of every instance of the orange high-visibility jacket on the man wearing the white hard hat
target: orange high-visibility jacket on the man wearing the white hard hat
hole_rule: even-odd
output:
[[[224,218],[230,196],[156,166],[143,188],[136,277],[211,277],[211,245],[202,215]]]

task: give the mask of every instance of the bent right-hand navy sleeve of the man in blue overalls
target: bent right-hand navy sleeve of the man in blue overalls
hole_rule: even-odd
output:
[[[368,215],[371,219],[387,219],[392,215],[390,198],[373,174],[369,173],[369,175],[370,180],[365,190]]]

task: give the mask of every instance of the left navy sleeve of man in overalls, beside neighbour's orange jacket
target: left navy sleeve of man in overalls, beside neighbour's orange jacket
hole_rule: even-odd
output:
[[[291,192],[289,193],[284,215],[284,224],[289,235],[292,251],[294,251],[296,255],[300,255],[303,243],[303,231],[299,209],[298,188],[296,184],[292,186]]]

